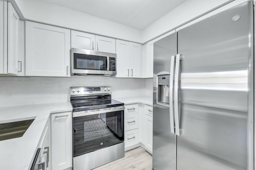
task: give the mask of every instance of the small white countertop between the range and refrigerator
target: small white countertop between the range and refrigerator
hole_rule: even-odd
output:
[[[153,97],[152,96],[137,96],[137,97],[122,97],[122,98],[113,98],[114,100],[120,101],[125,105],[142,103],[145,105],[153,106]]]

